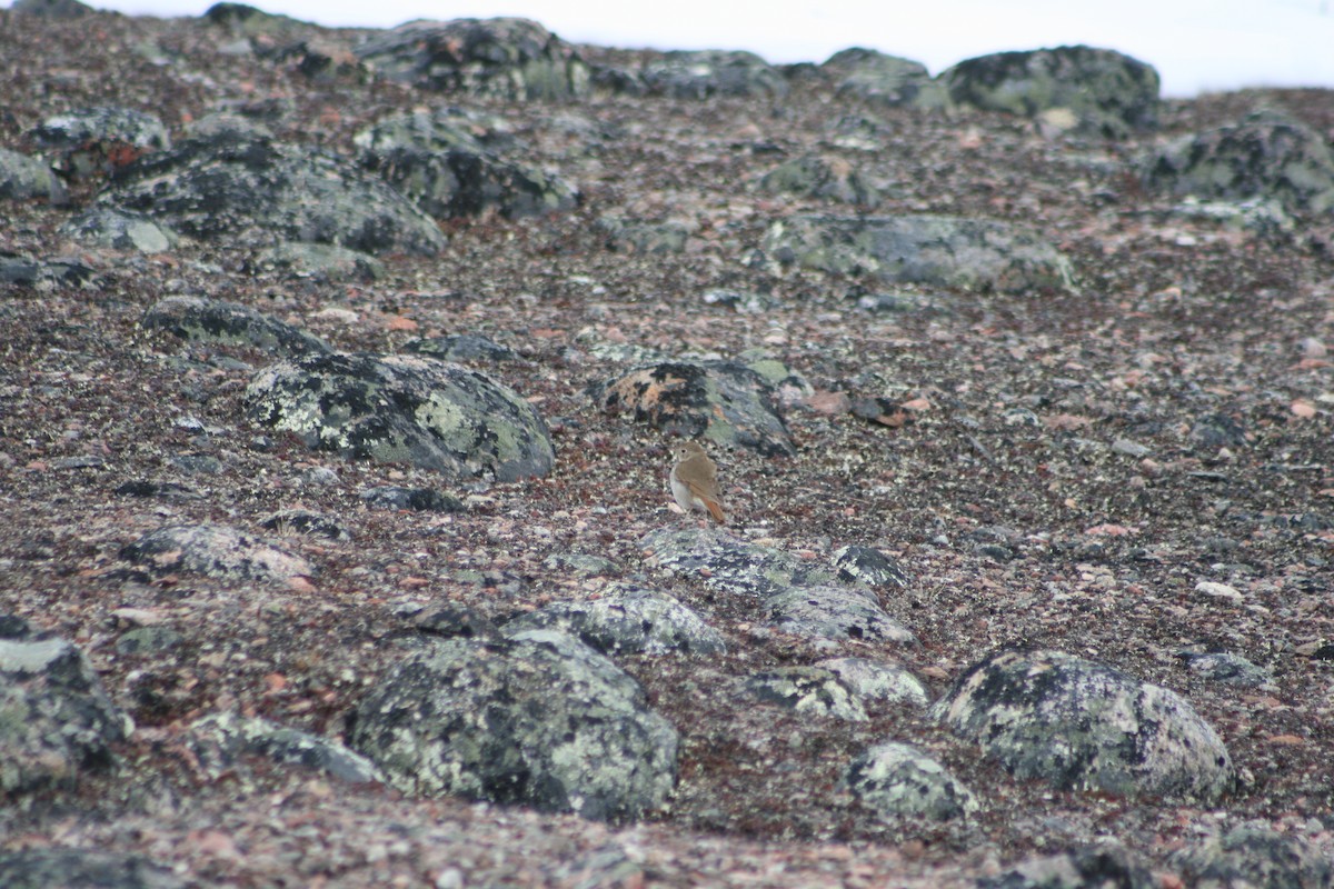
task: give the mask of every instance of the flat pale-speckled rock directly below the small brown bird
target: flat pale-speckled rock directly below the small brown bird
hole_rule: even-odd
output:
[[[834,572],[819,562],[747,544],[716,529],[664,528],[646,534],[640,548],[648,550],[648,562],[656,568],[738,596],[766,597],[792,586],[838,582]]]

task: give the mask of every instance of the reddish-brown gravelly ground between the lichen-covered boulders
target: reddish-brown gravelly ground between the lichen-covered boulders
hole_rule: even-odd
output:
[[[156,115],[173,141],[224,111],[352,156],[378,120],[452,104],[503,120],[510,155],[572,183],[578,203],[451,217],[444,249],[383,251],[374,275],[293,275],[257,261],[249,231],[152,253],[89,247],[60,227],[108,187],[103,171],[67,171],[63,203],[4,203],[0,612],[73,642],[135,730],[107,762],[12,793],[0,848],[141,854],[200,886],[971,886],[1101,842],[1149,885],[1175,886],[1242,885],[1207,884],[1182,852],[1249,826],[1302,857],[1263,880],[1245,872],[1251,885],[1330,884],[1334,217],[1297,201],[1282,224],[1221,221],[1183,211],[1145,164],[1257,109],[1327,143],[1331,93],[1167,101],[1157,128],[1109,140],[876,104],[812,67],[782,72],[784,95],[442,96],[371,76],[351,52],[366,33],[285,27],[304,57],[319,45],[332,60],[327,76],[299,53],[260,52],[288,37],[240,45],[204,20],[0,11],[0,147],[36,153],[32,131],[49,117],[119,105]],[[608,67],[644,57],[578,51]],[[842,137],[848,119],[875,121],[870,141]],[[874,211],[758,184],[811,152],[854,167]],[[886,283],[756,253],[776,220],[872,212],[1022,224],[1073,277],[1013,291]],[[682,239],[636,249],[607,217]],[[41,271],[20,268],[32,264]],[[247,409],[271,352],[141,324],[168,296],[249,307],[344,352],[484,336],[514,360],[466,364],[536,408],[554,466],[499,482],[312,450]],[[795,456],[712,448],[727,532],[816,564],[850,545],[891,556],[910,580],[878,588],[878,602],[916,644],[784,632],[759,598],[646,549],[648,534],[696,522],[670,508],[670,439],[594,395],[635,363],[739,356],[776,359],[808,388],[783,405]],[[124,488],[139,481],[167,496]],[[359,496],[388,484],[438,489],[463,510]],[[260,525],[292,508],[336,517],[348,537]],[[312,569],[237,582],[123,557],[188,524],[264,537]],[[610,561],[591,574],[550,561],[567,554]],[[726,642],[614,657],[679,733],[675,789],[639,820],[422,798],[252,754],[213,769],[183,740],[224,712],[347,740],[359,704],[423,645],[422,614],[454,604],[502,624],[612,581],[671,593]],[[121,642],[145,626],[172,644]],[[903,665],[938,700],[1003,649],[1062,650],[1179,693],[1226,744],[1235,780],[1203,801],[1061,789],[1014,777],[919,705],[867,700],[866,720],[818,717],[744,685],[863,657]],[[1211,678],[1191,668],[1203,653],[1262,673]],[[928,752],[978,810],[888,817],[855,798],[848,762],[887,740]],[[143,866],[124,885],[168,880]],[[1102,885],[1089,880],[1043,885]]]

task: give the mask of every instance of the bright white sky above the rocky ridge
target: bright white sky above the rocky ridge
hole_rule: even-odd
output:
[[[193,16],[212,0],[85,0],[131,15]],[[249,0],[323,25],[500,15],[571,43],[750,49],[823,61],[860,45],[931,73],[971,56],[1085,43],[1158,68],[1165,96],[1241,87],[1334,87],[1334,0]],[[9,0],[0,0],[8,5]]]

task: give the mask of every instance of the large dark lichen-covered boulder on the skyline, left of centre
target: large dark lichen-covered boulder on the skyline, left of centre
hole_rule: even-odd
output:
[[[588,92],[579,53],[527,19],[410,21],[356,49],[378,73],[438,92],[568,100]]]

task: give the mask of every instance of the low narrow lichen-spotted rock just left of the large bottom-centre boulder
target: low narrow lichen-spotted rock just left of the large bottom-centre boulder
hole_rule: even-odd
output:
[[[233,712],[195,720],[187,740],[199,766],[215,778],[236,768],[243,754],[257,754],[324,772],[340,781],[384,781],[384,773],[374,762],[338,741]]]

